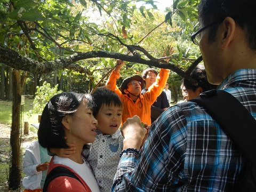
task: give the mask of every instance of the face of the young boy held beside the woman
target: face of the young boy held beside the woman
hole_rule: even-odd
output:
[[[110,106],[103,104],[96,119],[98,121],[97,130],[103,135],[114,134],[121,125],[122,108],[114,104],[110,104]]]

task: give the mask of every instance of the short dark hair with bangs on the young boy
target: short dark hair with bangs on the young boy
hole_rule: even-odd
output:
[[[92,97],[94,98],[95,107],[93,108],[93,116],[97,117],[99,110],[103,104],[106,106],[114,105],[115,107],[123,108],[123,104],[119,96],[111,91],[106,89],[106,87],[97,88],[93,93]]]

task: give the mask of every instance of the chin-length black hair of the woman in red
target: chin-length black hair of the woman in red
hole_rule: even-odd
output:
[[[45,148],[67,148],[62,119],[72,115],[87,100],[87,107],[93,110],[94,101],[89,94],[62,92],[55,95],[46,104],[39,125],[38,141]]]

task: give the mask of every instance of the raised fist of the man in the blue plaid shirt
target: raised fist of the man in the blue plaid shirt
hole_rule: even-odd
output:
[[[139,150],[147,134],[147,129],[141,125],[140,117],[135,115],[132,118],[127,118],[120,130],[124,137],[124,149],[134,148]]]

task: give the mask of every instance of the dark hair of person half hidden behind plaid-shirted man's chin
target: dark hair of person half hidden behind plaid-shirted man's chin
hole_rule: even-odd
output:
[[[188,79],[183,78],[183,85],[186,87],[186,89],[191,89],[194,92],[196,91],[197,87],[202,87],[203,92],[209,91],[212,89],[216,89],[218,85],[213,85],[208,82],[206,71],[204,67],[196,67],[190,74],[190,77],[196,80],[197,85],[194,85],[191,83]]]

